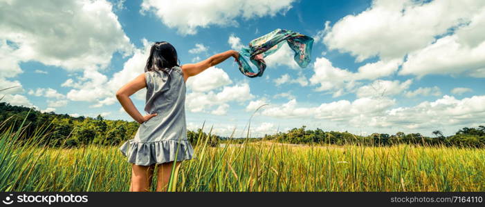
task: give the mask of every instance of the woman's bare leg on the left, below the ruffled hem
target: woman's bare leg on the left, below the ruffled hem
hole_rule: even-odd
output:
[[[131,165],[131,184],[129,190],[131,192],[149,191],[152,184],[152,177],[155,165],[152,166],[138,166]]]

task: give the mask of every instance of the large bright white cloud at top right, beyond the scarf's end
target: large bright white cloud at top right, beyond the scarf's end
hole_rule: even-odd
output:
[[[331,50],[350,52],[357,61],[400,58],[467,23],[484,5],[480,0],[373,1],[371,8],[335,23],[323,41]]]

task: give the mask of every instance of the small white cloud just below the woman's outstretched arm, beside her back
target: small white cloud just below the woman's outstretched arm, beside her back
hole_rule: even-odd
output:
[[[217,67],[210,67],[203,72],[187,79],[187,88],[195,92],[214,90],[221,86],[231,84],[229,75]]]

